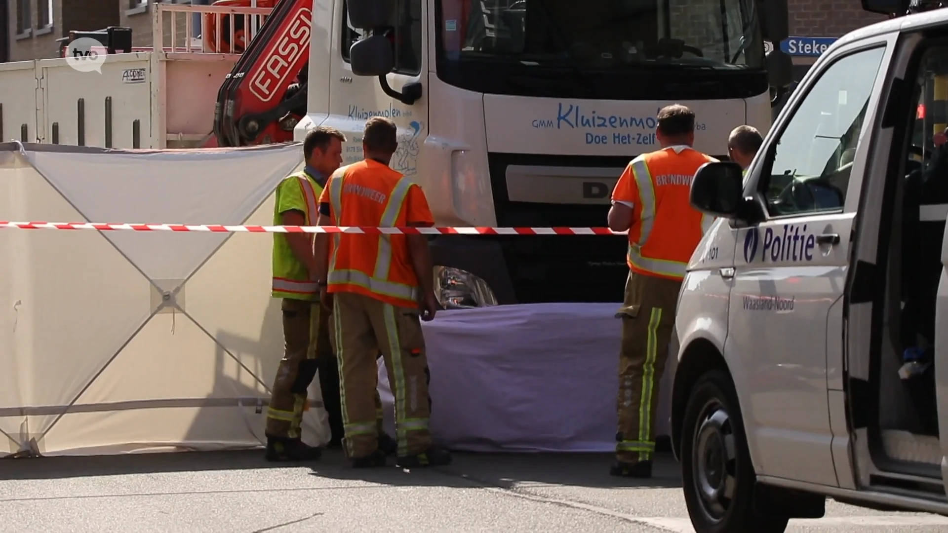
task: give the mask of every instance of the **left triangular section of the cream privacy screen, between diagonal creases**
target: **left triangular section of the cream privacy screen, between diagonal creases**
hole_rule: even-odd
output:
[[[82,220],[32,169],[17,172],[14,188],[14,220]],[[68,405],[151,314],[148,300],[129,298],[148,294],[149,283],[95,231],[18,233],[8,237],[15,243],[8,261],[16,272],[16,353],[26,358],[15,363],[21,395],[0,393],[7,396],[0,406]],[[26,419],[0,422],[0,429],[13,425],[26,432],[21,437],[41,436],[54,411],[34,410]]]

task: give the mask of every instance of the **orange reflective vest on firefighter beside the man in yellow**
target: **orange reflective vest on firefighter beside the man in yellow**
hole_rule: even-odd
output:
[[[421,187],[373,159],[339,168],[319,196],[334,226],[392,228],[434,224]],[[431,273],[430,275],[433,275]],[[406,235],[334,233],[328,292],[355,292],[403,307],[418,305],[418,278]]]

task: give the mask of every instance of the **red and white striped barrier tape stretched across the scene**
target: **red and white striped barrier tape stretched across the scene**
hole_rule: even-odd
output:
[[[361,233],[426,235],[624,235],[609,228],[370,228],[363,226],[227,226],[220,224],[102,224],[97,222],[7,222],[0,230],[210,231],[212,233]]]

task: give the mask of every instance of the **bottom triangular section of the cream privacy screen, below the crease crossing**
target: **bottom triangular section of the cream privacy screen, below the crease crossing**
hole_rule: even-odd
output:
[[[157,315],[90,384],[76,400],[75,414],[65,414],[43,444],[52,450],[107,449],[116,441],[144,449],[259,446],[263,434],[252,432],[250,421],[260,425],[262,415],[253,414],[253,408],[257,398],[267,396],[257,378],[198,324],[182,313]],[[155,416],[161,425],[153,423]]]

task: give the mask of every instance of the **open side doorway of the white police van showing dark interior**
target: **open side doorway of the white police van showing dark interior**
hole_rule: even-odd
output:
[[[933,347],[936,335],[945,337],[939,324],[948,321],[948,301],[941,302],[948,296],[948,143],[933,142],[933,133],[946,129],[936,123],[943,119],[919,109],[932,95],[948,94],[948,42],[913,32],[892,44],[850,257],[845,372],[828,376],[830,397],[837,386],[845,391],[852,460],[842,438],[833,441],[833,457],[841,487],[849,478],[857,488],[943,499],[948,435],[938,428],[948,423],[941,419],[948,387],[936,387],[933,368],[948,368],[948,346],[937,354]],[[916,355],[918,363],[905,364]],[[834,405],[830,418],[840,437],[843,417]]]

